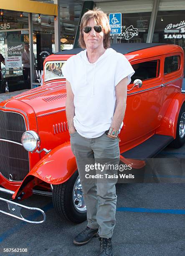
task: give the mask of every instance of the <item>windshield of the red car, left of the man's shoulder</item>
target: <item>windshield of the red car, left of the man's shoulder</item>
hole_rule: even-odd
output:
[[[44,81],[49,81],[53,79],[65,78],[62,74],[62,69],[66,61],[48,61],[44,67]]]

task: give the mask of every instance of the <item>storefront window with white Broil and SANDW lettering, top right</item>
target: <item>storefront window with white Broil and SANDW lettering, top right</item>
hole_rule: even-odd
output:
[[[158,11],[153,43],[177,44],[185,51],[185,10]]]

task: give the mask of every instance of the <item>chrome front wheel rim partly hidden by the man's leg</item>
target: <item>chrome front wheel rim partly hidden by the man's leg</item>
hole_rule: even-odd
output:
[[[83,189],[80,183],[79,176],[76,179],[76,182],[73,187],[73,205],[78,212],[80,213],[86,212],[86,205],[83,197]]]

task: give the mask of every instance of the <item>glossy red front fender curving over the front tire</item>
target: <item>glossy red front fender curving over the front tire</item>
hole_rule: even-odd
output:
[[[15,199],[22,194],[21,199],[25,199],[28,194],[30,196],[30,190],[42,181],[53,185],[66,182],[76,169],[76,159],[71,151],[70,142],[63,143],[35,164],[12,198]]]

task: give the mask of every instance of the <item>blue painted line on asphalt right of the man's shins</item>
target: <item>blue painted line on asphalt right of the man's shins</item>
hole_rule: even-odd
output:
[[[150,208],[119,207],[116,210],[118,212],[151,212],[151,213],[185,214],[185,210],[183,209],[150,209]]]

